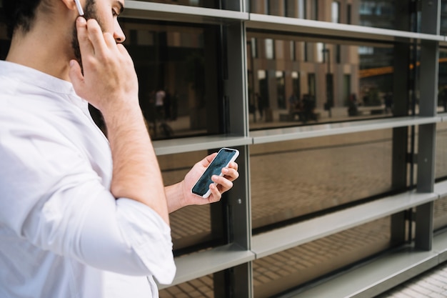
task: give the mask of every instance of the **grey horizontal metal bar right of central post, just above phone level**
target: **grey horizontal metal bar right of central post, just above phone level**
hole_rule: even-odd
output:
[[[253,138],[253,144],[263,144],[276,141],[290,141],[293,139],[306,139],[317,136],[331,136],[334,134],[348,134],[359,131],[430,124],[441,121],[441,117],[407,116],[311,126],[296,126],[283,129],[266,129],[261,131],[251,131],[250,136]]]

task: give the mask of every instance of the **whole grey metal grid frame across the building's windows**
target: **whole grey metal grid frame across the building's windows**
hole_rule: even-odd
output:
[[[224,3],[224,2],[223,2]],[[393,239],[401,243],[405,231],[403,212],[416,209],[416,238],[414,247],[429,252],[428,255],[416,254],[413,250],[403,254],[391,255],[386,261],[373,262],[371,268],[380,271],[393,266],[390,259],[401,262],[406,259],[408,266],[398,267],[401,273],[398,278],[383,277],[387,284],[396,284],[412,277],[417,272],[430,268],[434,263],[433,253],[433,201],[440,194],[435,190],[447,189],[444,184],[434,184],[434,149],[436,123],[446,121],[447,116],[436,115],[436,88],[438,75],[438,46],[447,45],[446,36],[439,35],[439,14],[441,0],[422,1],[421,33],[406,30],[388,30],[366,28],[346,24],[333,24],[323,21],[293,19],[281,16],[251,14],[247,11],[248,0],[232,0],[225,2],[222,9],[205,9],[193,6],[156,4],[146,1],[126,1],[123,16],[138,19],[156,19],[163,21],[189,22],[197,24],[219,24],[222,29],[222,44],[228,60],[228,76],[224,79],[224,96],[228,108],[228,129],[225,135],[193,137],[155,141],[156,154],[176,154],[201,149],[215,149],[221,146],[235,146],[241,155],[238,158],[241,177],[229,192],[226,202],[221,207],[226,210],[226,222],[223,227],[228,233],[228,244],[206,252],[197,252],[176,259],[178,272],[174,284],[214,273],[217,282],[215,297],[253,297],[251,261],[284,249],[303,244],[313,239],[326,237],[343,229],[370,222],[373,219],[391,215]],[[433,17],[436,16],[436,17]],[[401,20],[401,24],[408,24]],[[396,55],[395,68],[400,69],[396,76],[406,76],[409,47],[412,43],[421,46],[421,111],[419,116],[401,116],[390,119],[364,120],[341,124],[320,124],[313,126],[293,127],[288,129],[269,129],[265,131],[248,131],[248,91],[246,78],[246,29],[265,29],[282,31],[285,34],[316,34],[356,42],[378,41],[393,42],[397,51],[406,51],[408,55]],[[403,67],[402,67],[403,66]],[[395,80],[394,93],[408,96],[408,80]],[[401,101],[402,102],[402,101]],[[402,115],[406,115],[408,106],[397,107]],[[408,127],[417,127],[418,134],[418,175],[415,192],[406,192],[393,197],[385,197],[375,202],[359,205],[351,209],[334,212],[309,222],[293,224],[283,229],[251,236],[250,209],[250,164],[249,149],[251,144],[287,141],[293,139],[312,138],[347,134],[358,131],[376,129],[393,129],[393,184],[405,184],[406,174],[401,169],[406,167],[406,150]],[[412,212],[411,212],[412,213]],[[360,216],[358,214],[361,214]],[[217,223],[222,224],[222,223]],[[318,229],[315,229],[318,227]],[[437,249],[443,249],[438,244]],[[447,247],[447,243],[444,247]],[[446,248],[447,251],[447,248]],[[439,256],[439,254],[437,254]],[[419,256],[419,257],[418,257]],[[422,256],[422,257],[420,257]],[[413,259],[411,259],[413,258]],[[446,257],[447,259],[447,257]],[[425,260],[425,261],[424,261]],[[388,265],[387,265],[388,264]],[[411,266],[413,264],[413,266]],[[417,268],[417,270],[415,269]],[[389,268],[388,268],[389,269]],[[358,269],[360,272],[361,269]],[[353,276],[357,275],[354,271]],[[368,270],[366,270],[368,272]],[[373,272],[374,273],[374,272]],[[408,274],[405,274],[408,273]],[[348,277],[348,275],[347,275]],[[368,279],[372,282],[373,279]],[[339,282],[335,284],[340,284]],[[357,285],[361,284],[358,282]],[[371,285],[371,284],[370,284]],[[334,284],[328,283],[329,287]],[[163,286],[165,287],[165,286]],[[314,291],[323,289],[325,284],[312,285]],[[383,288],[384,289],[384,288]],[[380,290],[371,287],[358,287],[358,297],[371,297]],[[331,292],[331,297],[334,292]],[[363,294],[362,294],[363,293]],[[303,296],[305,297],[305,296]]]

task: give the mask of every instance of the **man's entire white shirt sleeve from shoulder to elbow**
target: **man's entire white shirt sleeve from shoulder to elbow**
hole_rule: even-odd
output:
[[[89,266],[169,284],[169,226],[146,205],[115,199],[88,152],[59,135],[50,126],[0,129],[0,226]]]

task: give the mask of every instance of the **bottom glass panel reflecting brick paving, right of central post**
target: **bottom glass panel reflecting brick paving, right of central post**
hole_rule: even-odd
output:
[[[253,261],[256,298],[274,297],[287,289],[334,272],[390,247],[390,217]]]

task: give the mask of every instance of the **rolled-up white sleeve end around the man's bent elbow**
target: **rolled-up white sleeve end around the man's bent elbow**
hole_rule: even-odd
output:
[[[121,198],[114,205],[99,201],[86,214],[79,254],[94,267],[153,275],[159,283],[170,284],[176,267],[166,222],[153,209],[132,199]],[[102,235],[101,242],[98,235]]]

